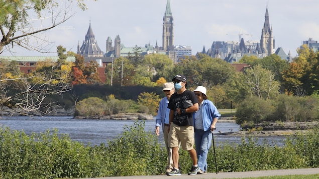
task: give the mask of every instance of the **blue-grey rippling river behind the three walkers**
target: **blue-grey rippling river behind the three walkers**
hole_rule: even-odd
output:
[[[124,127],[134,124],[134,120],[98,120],[98,119],[73,119],[72,116],[1,116],[0,125],[10,127],[13,130],[23,130],[26,134],[40,133],[50,129],[58,129],[58,133],[68,134],[72,140],[84,144],[99,145],[107,144],[109,140],[115,139],[123,133]],[[217,130],[214,131],[216,145],[223,143],[240,143],[241,136],[219,135],[221,132],[240,130],[240,126],[234,122],[218,122]],[[145,120],[145,130],[155,135],[155,120]],[[162,134],[162,131],[160,131]],[[163,141],[163,135],[158,137]],[[282,145],[283,136],[258,137],[258,142],[266,140],[269,144]]]

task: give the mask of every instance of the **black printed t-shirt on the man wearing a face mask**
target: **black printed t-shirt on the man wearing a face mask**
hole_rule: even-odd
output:
[[[193,124],[193,113],[183,113],[177,114],[176,108],[183,109],[182,106],[183,101],[190,100],[193,104],[198,103],[198,100],[195,96],[195,93],[189,90],[185,90],[182,94],[174,93],[168,103],[167,108],[174,111],[174,119],[173,122],[179,126],[191,125]]]

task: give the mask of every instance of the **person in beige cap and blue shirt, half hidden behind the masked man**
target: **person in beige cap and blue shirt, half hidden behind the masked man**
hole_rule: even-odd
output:
[[[160,126],[162,125],[162,130],[164,134],[164,142],[167,150],[167,165],[166,165],[166,173],[172,171],[174,167],[173,158],[172,158],[172,148],[168,147],[168,126],[169,126],[169,109],[167,108],[169,99],[171,98],[172,94],[175,92],[175,87],[173,82],[165,83],[164,88],[162,90],[165,94],[165,97],[161,99],[159,102],[159,107],[156,116],[156,130],[155,133],[159,136]]]

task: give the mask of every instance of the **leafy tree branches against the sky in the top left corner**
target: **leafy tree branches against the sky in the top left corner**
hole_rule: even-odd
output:
[[[13,46],[47,52],[46,48],[51,43],[37,34],[53,29],[74,16],[74,13],[71,12],[72,5],[77,4],[81,10],[87,9],[83,2],[84,0],[65,1],[64,4],[61,4],[60,1],[43,0],[1,1],[0,54],[4,50],[10,51]]]

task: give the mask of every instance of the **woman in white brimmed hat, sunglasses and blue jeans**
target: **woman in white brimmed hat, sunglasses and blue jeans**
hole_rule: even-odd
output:
[[[216,123],[221,117],[216,106],[207,99],[206,88],[197,86],[194,93],[198,99],[199,110],[195,112],[194,132],[195,149],[198,158],[197,173],[207,172],[207,154],[211,144],[211,132],[216,129]]]

